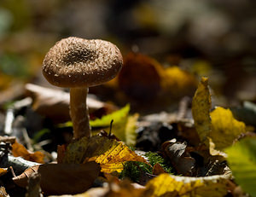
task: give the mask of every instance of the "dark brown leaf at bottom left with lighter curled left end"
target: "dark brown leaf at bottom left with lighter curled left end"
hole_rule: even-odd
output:
[[[36,165],[13,180],[20,187],[26,187],[34,171],[41,175],[40,186],[44,194],[78,194],[90,188],[98,177],[100,167],[96,162]]]

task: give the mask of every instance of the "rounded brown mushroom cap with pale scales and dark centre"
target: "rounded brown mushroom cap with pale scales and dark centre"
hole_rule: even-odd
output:
[[[55,86],[90,87],[111,80],[122,66],[122,55],[113,43],[69,37],[49,49],[43,74]]]

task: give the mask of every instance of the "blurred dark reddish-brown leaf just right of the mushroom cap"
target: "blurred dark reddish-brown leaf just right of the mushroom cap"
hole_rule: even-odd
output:
[[[161,90],[160,63],[147,55],[130,53],[124,59],[124,67],[119,72],[119,88],[131,98],[151,100]]]

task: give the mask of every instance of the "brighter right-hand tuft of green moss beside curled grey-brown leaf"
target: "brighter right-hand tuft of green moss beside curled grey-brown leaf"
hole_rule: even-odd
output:
[[[159,163],[166,172],[172,174],[171,163],[166,159],[162,158],[159,154],[148,152],[145,154],[145,157],[147,157],[150,165],[154,166]]]

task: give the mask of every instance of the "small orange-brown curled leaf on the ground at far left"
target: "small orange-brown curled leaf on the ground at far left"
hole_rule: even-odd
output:
[[[44,164],[44,154],[42,152],[36,151],[35,153],[31,153],[22,144],[18,142],[12,144],[12,154],[15,157],[22,157],[26,160]]]

